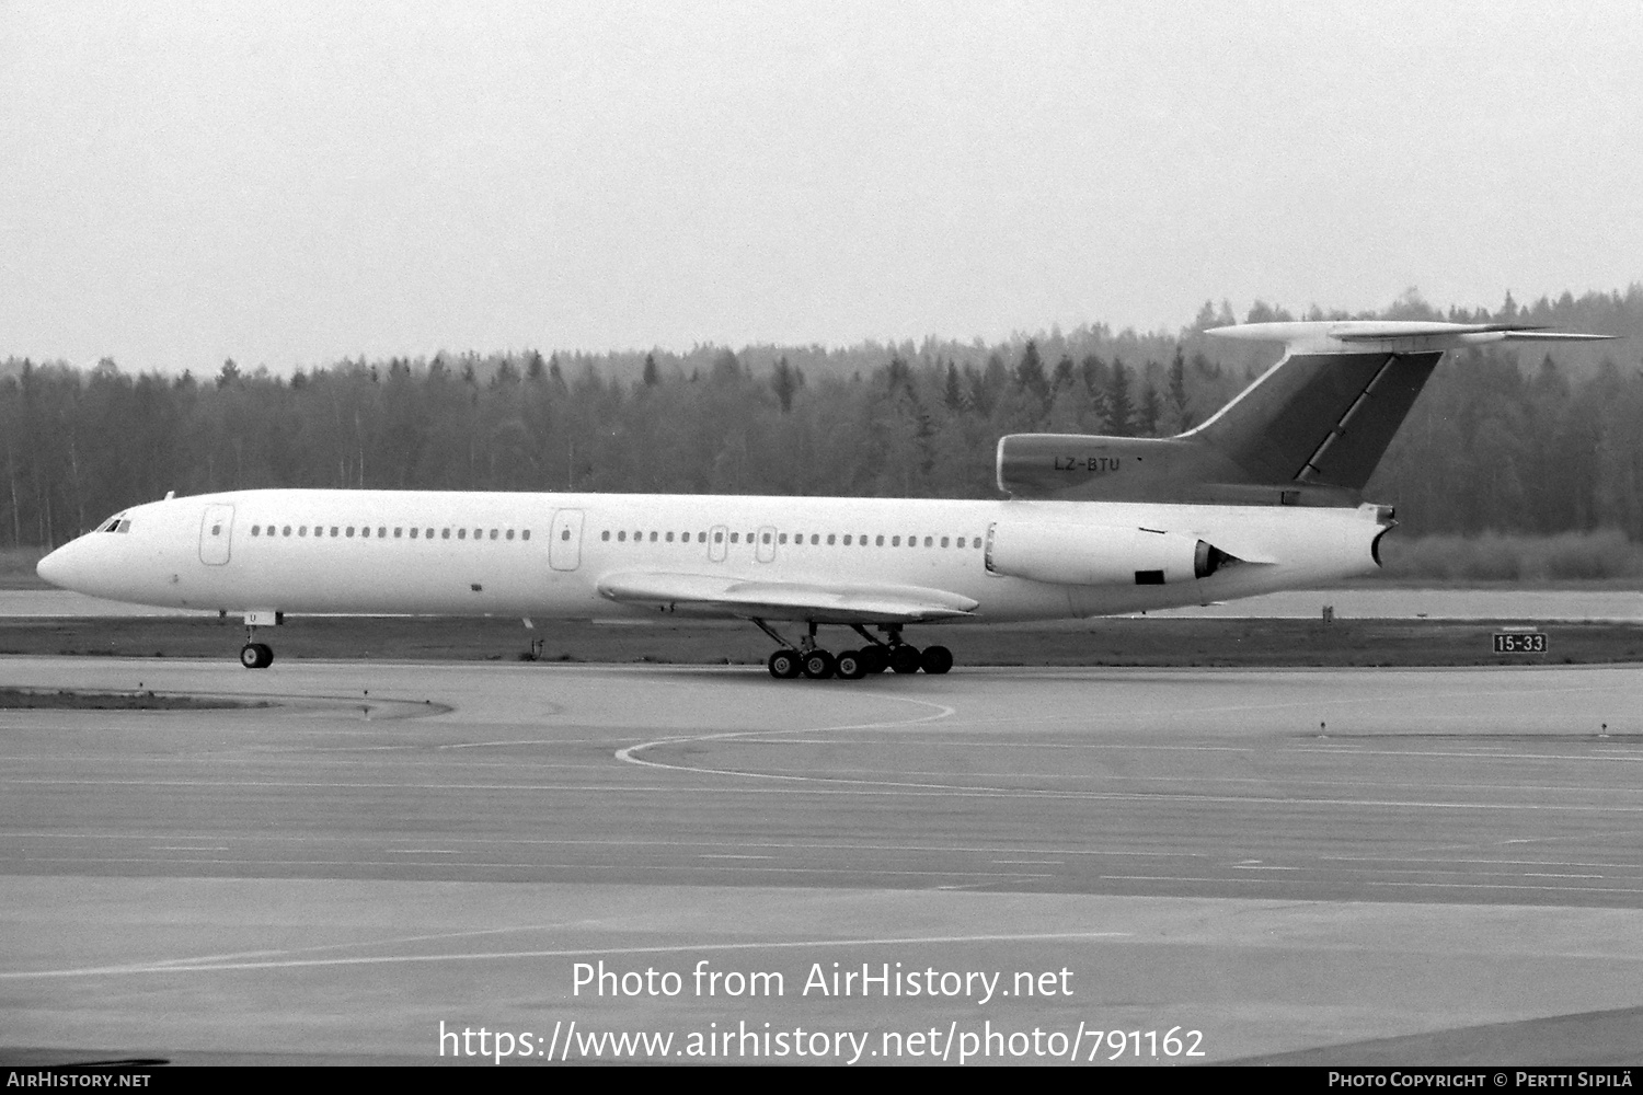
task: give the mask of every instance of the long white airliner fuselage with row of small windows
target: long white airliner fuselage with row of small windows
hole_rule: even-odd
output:
[[[989,570],[991,530],[1043,525],[1063,530],[1056,552],[1076,553],[1081,530],[1091,552],[1107,530],[1158,530],[1257,561],[1160,584],[1063,584]],[[956,619],[992,622],[1328,583],[1374,571],[1372,545],[1385,532],[1374,507],[304,489],[148,502],[104,529],[49,555],[39,573],[92,596],[227,612],[751,616],[621,602],[600,588],[610,575],[700,575],[948,591],[974,601]],[[1114,566],[1125,576],[1152,571],[1145,561]]]

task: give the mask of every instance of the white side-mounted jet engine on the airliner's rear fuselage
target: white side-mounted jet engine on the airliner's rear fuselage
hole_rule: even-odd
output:
[[[1065,586],[1163,586],[1208,578],[1234,561],[1206,540],[1160,529],[1050,522],[987,527],[987,570]]]

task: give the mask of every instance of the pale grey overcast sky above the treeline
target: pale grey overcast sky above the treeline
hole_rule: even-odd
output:
[[[1175,328],[1643,279],[1643,5],[0,2],[0,356]]]

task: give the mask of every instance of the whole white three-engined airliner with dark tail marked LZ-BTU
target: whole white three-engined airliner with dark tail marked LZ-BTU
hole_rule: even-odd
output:
[[[905,625],[1111,616],[1374,571],[1395,522],[1360,491],[1443,351],[1600,338],[1378,320],[1211,333],[1288,353],[1178,437],[1001,438],[1001,501],[230,491],[133,506],[38,570],[99,598],[243,614],[246,668],[273,662],[255,629],[288,612],[677,614],[756,624],[777,678],[945,673],[953,655],[910,645]],[[835,657],[818,625],[863,645]]]

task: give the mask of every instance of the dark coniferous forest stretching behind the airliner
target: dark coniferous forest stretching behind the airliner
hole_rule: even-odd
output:
[[[1643,286],[1387,318],[1643,333]],[[1247,320],[1291,317],[1257,304]],[[51,547],[166,491],[294,486],[996,497],[1002,433],[1168,435],[1277,360],[1204,328],[1006,343],[432,353],[273,374],[0,364],[0,545]],[[1643,540],[1643,368],[1625,338],[1447,355],[1367,496],[1416,537]]]

